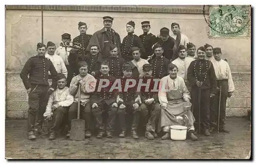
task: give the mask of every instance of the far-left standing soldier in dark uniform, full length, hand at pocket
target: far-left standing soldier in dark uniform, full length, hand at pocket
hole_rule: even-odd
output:
[[[34,130],[41,130],[49,95],[56,89],[57,86],[57,72],[52,62],[45,58],[45,53],[46,45],[37,43],[37,56],[29,58],[24,65],[22,72],[20,72],[20,78],[22,78],[23,84],[29,95],[29,140],[36,139]],[[52,76],[52,86],[50,89],[48,83],[49,71]]]

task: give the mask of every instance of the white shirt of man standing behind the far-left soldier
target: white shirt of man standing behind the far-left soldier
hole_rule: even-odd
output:
[[[50,59],[54,68],[56,69],[57,73],[62,73],[66,77],[68,76],[67,68],[66,68],[65,63],[63,62],[63,60],[60,56],[58,56],[55,53],[53,55],[50,55],[50,54],[46,53],[45,56],[46,56],[46,58]],[[49,72],[49,74],[50,74],[50,72]]]

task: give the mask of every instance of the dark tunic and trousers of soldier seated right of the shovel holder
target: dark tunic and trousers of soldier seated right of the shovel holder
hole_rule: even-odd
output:
[[[99,90],[100,79],[106,79],[110,81],[108,87],[101,88]],[[115,116],[117,113],[117,107],[112,107],[113,103],[117,99],[117,91],[114,90],[110,92],[112,85],[114,84],[116,78],[110,75],[100,75],[96,77],[97,84],[95,92],[91,96],[91,106],[96,103],[98,107],[92,108],[92,113],[95,119],[95,126],[98,129],[98,132],[104,132],[104,124],[102,122],[102,113],[108,112],[109,117],[106,120],[106,131],[113,132],[115,124]],[[105,82],[101,85],[105,85]]]

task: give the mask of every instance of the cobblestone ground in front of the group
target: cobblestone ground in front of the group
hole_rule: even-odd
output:
[[[60,159],[60,158],[187,158],[235,159],[246,158],[251,150],[250,121],[245,118],[228,118],[226,127],[231,132],[199,136],[199,141],[148,141],[144,137],[133,140],[103,138],[70,141],[59,137],[54,141],[37,139],[29,141],[26,121],[6,121],[6,158]]]

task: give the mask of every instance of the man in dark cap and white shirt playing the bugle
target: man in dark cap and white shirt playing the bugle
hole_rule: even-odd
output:
[[[72,50],[72,48],[67,47],[67,45],[66,45],[67,41],[68,42],[71,41],[71,35],[68,33],[62,34],[60,46],[56,49],[55,53],[62,58],[63,62],[65,63],[65,66],[68,70],[67,87],[69,87],[70,82],[73,78],[73,72],[75,70],[73,70],[69,65],[68,57],[69,57],[69,53]]]

